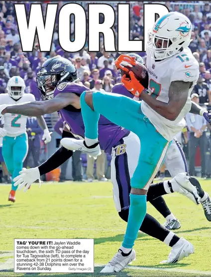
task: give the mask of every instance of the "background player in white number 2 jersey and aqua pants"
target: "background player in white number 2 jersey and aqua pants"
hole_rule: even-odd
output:
[[[29,101],[35,101],[35,97],[31,93],[24,93],[25,82],[19,76],[13,76],[8,80],[7,93],[0,94],[0,104],[19,104]],[[42,116],[37,117],[40,127],[44,130],[43,139],[45,143],[51,141],[51,135],[45,120]],[[3,128],[0,128],[0,137],[3,138],[2,155],[6,167],[12,179],[16,177],[22,170],[23,161],[28,152],[28,137],[26,134],[27,116],[20,114],[6,113],[3,116]],[[15,202],[15,191],[17,187],[13,186],[8,200]]]

